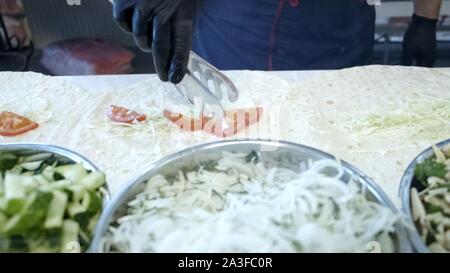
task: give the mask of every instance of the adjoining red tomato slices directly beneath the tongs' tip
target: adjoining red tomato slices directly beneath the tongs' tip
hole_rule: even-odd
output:
[[[203,130],[218,137],[229,137],[257,123],[262,112],[262,107],[228,110],[221,120],[205,116],[198,119],[190,118],[169,110],[164,110],[164,116],[183,130],[192,132]]]

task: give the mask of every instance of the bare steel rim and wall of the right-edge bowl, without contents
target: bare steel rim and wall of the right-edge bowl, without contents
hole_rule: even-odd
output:
[[[445,146],[450,145],[450,139],[447,139],[445,141],[442,141],[436,146],[438,148],[443,148]],[[417,230],[413,220],[412,220],[412,213],[411,213],[411,188],[417,187],[420,189],[422,186],[415,180],[414,178],[414,170],[416,169],[417,164],[422,163],[425,159],[428,159],[434,155],[433,148],[430,147],[426,149],[425,151],[421,152],[406,168],[405,173],[403,174],[401,183],[400,183],[400,189],[399,189],[399,197],[400,197],[400,208],[401,211],[405,214],[406,220],[409,222],[409,226],[411,228],[408,228],[408,236],[411,240],[411,243],[414,247],[414,249],[417,252],[420,253],[430,253],[430,250],[426,246],[426,244],[423,242],[422,238],[420,238],[419,231]]]

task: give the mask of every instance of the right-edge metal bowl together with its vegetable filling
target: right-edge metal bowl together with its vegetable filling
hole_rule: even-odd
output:
[[[400,184],[408,236],[420,253],[450,252],[450,139],[421,152]]]

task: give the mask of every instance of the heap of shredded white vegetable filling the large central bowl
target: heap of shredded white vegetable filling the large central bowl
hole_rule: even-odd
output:
[[[248,159],[248,158],[247,158]],[[119,252],[394,251],[398,215],[368,201],[334,160],[299,173],[224,153],[176,177],[156,175],[103,240]],[[326,173],[326,174],[325,174]]]

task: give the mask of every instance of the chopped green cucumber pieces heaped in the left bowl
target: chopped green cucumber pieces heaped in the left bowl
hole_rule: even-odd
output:
[[[0,252],[81,252],[106,194],[105,175],[51,153],[0,152]]]

